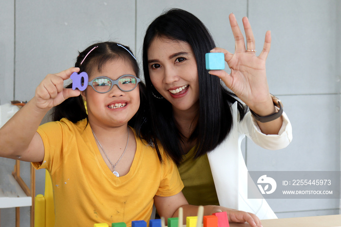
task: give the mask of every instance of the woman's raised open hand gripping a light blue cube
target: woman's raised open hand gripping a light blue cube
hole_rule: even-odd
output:
[[[229,21],[235,39],[235,53],[232,54],[222,48],[214,48],[211,52],[224,53],[231,73],[227,74],[224,70],[211,70],[209,73],[221,78],[229,89],[257,113],[257,108],[261,109],[263,105],[273,106],[265,72],[265,60],[270,51],[271,33],[270,31],[266,32],[263,50],[259,56],[256,56],[254,52],[255,39],[248,19],[243,18],[246,46],[233,14],[229,15]]]

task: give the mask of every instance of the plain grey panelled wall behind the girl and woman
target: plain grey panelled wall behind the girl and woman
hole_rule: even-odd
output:
[[[29,100],[47,74],[73,66],[77,51],[96,41],[129,45],[141,60],[148,24],[171,7],[202,19],[217,45],[230,52],[234,41],[229,13],[240,25],[248,16],[258,51],[266,30],[271,30],[268,83],[270,92],[284,103],[294,139],[281,151],[266,151],[246,139],[249,170],[340,170],[339,0],[2,0],[0,104]],[[12,160],[1,159],[0,165],[12,170]],[[44,171],[38,170],[37,193],[43,190]],[[278,217],[340,212],[339,200],[268,202]],[[29,226],[29,215],[28,208],[21,208],[21,226]],[[14,208],[1,209],[1,225],[14,226],[14,219]]]

